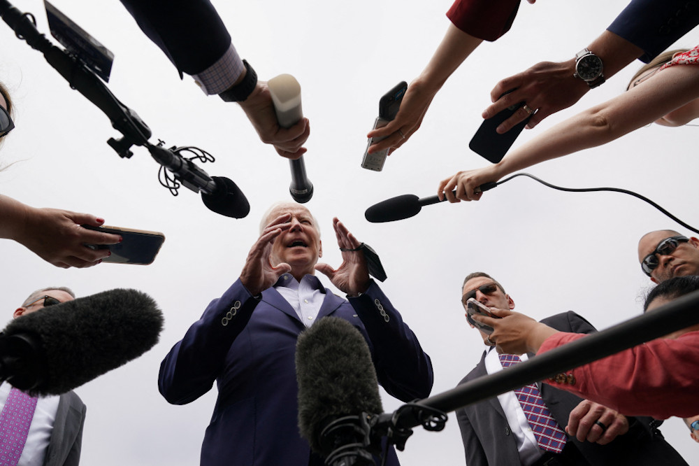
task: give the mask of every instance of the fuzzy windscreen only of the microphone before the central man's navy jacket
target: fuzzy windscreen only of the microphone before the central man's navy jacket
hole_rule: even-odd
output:
[[[325,426],[343,416],[383,412],[376,371],[364,337],[347,320],[325,317],[296,342],[298,428],[311,449]]]

